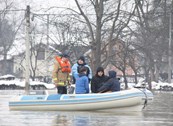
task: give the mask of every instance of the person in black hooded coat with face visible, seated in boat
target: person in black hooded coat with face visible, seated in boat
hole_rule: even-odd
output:
[[[92,77],[91,80],[91,92],[98,93],[98,89],[109,79],[108,76],[104,74],[103,67],[98,67],[96,74]]]

